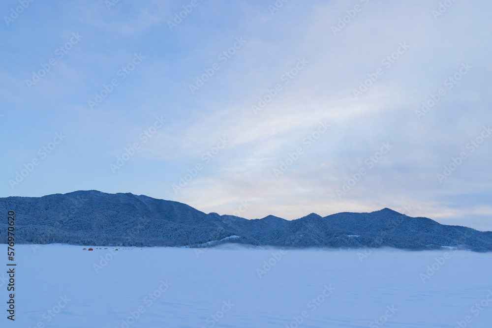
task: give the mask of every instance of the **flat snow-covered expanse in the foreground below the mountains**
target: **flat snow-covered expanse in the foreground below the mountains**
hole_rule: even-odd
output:
[[[16,245],[1,327],[492,327],[491,253],[82,248]]]

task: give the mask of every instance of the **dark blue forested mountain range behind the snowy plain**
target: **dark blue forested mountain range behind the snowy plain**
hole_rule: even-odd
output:
[[[391,209],[371,213],[311,213],[297,220],[269,215],[247,220],[205,214],[147,196],[76,191],[39,198],[0,198],[0,210],[15,211],[16,242],[107,246],[208,247],[240,243],[279,247],[395,247],[413,250],[457,247],[492,251],[492,232],[439,224]],[[0,225],[0,243],[7,243]]]

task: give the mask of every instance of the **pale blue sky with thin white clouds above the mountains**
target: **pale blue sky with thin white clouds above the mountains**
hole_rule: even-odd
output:
[[[5,0],[0,197],[492,230],[492,3]]]

